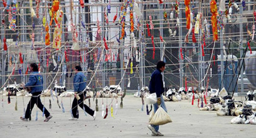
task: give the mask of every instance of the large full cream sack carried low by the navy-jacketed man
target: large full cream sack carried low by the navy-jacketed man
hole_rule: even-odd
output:
[[[172,122],[171,118],[169,117],[167,112],[162,107],[159,107],[156,110],[156,113],[154,114],[152,119],[150,120],[149,124],[151,124],[151,125],[164,125],[164,124],[167,124],[169,122]]]

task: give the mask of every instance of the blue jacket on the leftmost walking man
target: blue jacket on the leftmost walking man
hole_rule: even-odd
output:
[[[29,80],[24,87],[31,89],[30,93],[43,91],[43,77],[38,72],[32,72],[29,75]]]

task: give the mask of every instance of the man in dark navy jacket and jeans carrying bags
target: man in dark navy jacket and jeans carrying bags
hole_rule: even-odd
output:
[[[152,73],[151,79],[149,82],[149,92],[156,93],[157,103],[154,104],[154,112],[158,109],[159,105],[167,112],[166,105],[164,104],[164,98],[162,96],[164,92],[164,83],[162,73],[165,70],[164,61],[158,61],[156,70]],[[151,130],[152,136],[163,136],[158,130],[159,125],[148,125],[147,128]]]

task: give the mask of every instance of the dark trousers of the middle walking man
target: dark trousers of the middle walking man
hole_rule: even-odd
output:
[[[79,93],[79,92],[78,92]],[[79,114],[78,114],[78,109],[77,109],[77,104],[83,109],[83,107],[85,107],[85,112],[87,112],[89,115],[92,115],[94,114],[94,110],[90,109],[90,107],[88,107],[87,105],[83,104],[83,98],[85,98],[85,96],[83,95],[83,93],[81,93],[79,95],[80,99],[77,101],[77,98],[74,97],[74,100],[73,100],[73,103],[72,103],[72,114],[73,114],[73,117],[74,118],[77,118],[79,117]]]

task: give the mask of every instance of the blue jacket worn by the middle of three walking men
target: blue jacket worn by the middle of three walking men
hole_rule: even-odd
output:
[[[78,72],[73,80],[74,92],[82,92],[86,87],[86,77],[82,72]]]

